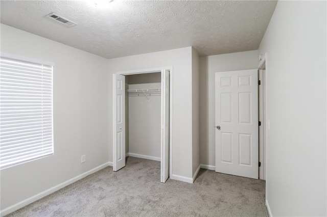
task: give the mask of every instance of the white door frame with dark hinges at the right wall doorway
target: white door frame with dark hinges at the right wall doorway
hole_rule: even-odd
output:
[[[268,129],[269,129],[269,119],[267,113],[267,79],[268,79],[268,70],[267,70],[267,59],[268,53],[265,55],[259,55],[259,79],[261,80],[261,86],[259,86],[259,114],[261,121],[261,130],[259,136],[261,137],[259,140],[259,160],[261,162],[261,167],[259,168],[259,178],[263,180],[267,180],[267,137],[268,137]],[[264,70],[264,71],[263,71]],[[267,195],[267,191],[266,191]]]

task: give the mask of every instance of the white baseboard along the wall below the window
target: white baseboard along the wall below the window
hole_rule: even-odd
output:
[[[41,192],[41,193],[39,193],[37,195],[34,195],[34,196],[32,196],[32,197],[30,197],[28,199],[22,200],[22,201],[14,204],[12,206],[9,206],[9,207],[7,207],[7,208],[0,211],[0,216],[5,216],[5,215],[7,215],[7,214],[9,214],[11,212],[14,212],[14,211],[16,211],[16,210],[18,210],[18,209],[20,209],[20,208],[22,208],[24,206],[27,206],[27,205],[29,205],[29,204],[31,204],[31,203],[45,197],[45,196],[48,196],[48,195],[58,191],[59,189],[65,187],[65,186],[67,186],[69,184],[72,184],[72,183],[74,183],[74,182],[76,182],[76,181],[78,181],[78,180],[80,180],[80,179],[82,179],[82,178],[84,178],[84,177],[86,177],[86,176],[88,176],[88,175],[90,175],[92,173],[98,172],[99,170],[102,170],[103,168],[106,168],[108,166],[112,166],[112,162],[106,162],[105,164],[100,165],[100,166],[98,166],[98,167],[96,167],[94,169],[91,169],[91,170],[89,170],[89,171],[87,171],[85,173],[82,173],[81,175],[78,175],[78,176],[76,176],[76,177],[74,177],[72,179],[69,179],[69,180],[67,180],[65,182],[62,182],[62,183],[60,183],[60,184],[58,184],[58,185],[56,185],[54,187],[46,189],[45,191],[43,191],[43,192]]]

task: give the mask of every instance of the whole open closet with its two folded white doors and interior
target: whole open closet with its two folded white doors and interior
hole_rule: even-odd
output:
[[[113,74],[113,171],[126,157],[160,161],[160,181],[170,171],[170,69]]]

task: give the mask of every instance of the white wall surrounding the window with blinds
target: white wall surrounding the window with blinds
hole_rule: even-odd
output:
[[[108,69],[104,58],[4,24],[1,52],[55,64],[55,153],[1,170],[4,210],[108,162]]]

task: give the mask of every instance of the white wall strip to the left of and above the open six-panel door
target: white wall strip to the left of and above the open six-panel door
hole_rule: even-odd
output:
[[[200,58],[200,161],[214,169],[215,72],[258,68],[258,51],[245,51]]]

